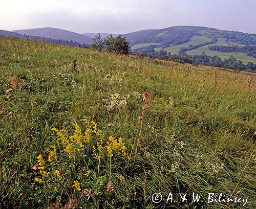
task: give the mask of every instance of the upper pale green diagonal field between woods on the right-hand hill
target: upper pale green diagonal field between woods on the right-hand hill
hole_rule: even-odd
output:
[[[178,54],[180,49],[182,47],[188,47],[189,45],[197,45],[199,43],[204,43],[207,41],[210,41],[210,38],[207,38],[205,36],[193,36],[190,41],[180,44],[180,45],[174,45],[173,47],[164,48],[163,50],[166,52],[170,52],[171,54]],[[161,48],[156,48],[155,51],[160,51]]]

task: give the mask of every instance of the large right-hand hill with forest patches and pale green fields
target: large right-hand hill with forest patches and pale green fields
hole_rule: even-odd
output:
[[[256,34],[177,26],[126,34],[132,53],[182,62],[256,71]]]

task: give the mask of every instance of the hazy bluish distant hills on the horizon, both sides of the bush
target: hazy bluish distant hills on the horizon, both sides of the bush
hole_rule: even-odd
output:
[[[90,45],[95,33],[78,34],[56,28],[15,30],[15,34],[50,38],[50,41],[68,41],[66,45]],[[1,35],[1,34],[0,34]],[[109,33],[101,33],[105,38]],[[118,34],[113,34],[117,36]],[[15,36],[12,34],[12,36]],[[124,34],[131,42],[132,53],[153,56],[201,54],[218,56],[223,61],[230,56],[244,64],[256,63],[256,34],[223,31],[214,28],[176,26],[165,29],[142,30]],[[70,42],[69,42],[70,41]],[[75,43],[73,43],[75,42]],[[62,44],[62,43],[60,43]]]

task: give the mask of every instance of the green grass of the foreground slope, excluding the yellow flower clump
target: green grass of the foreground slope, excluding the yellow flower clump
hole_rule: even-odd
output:
[[[20,47],[15,48],[15,44]],[[30,42],[28,49],[26,44],[25,40],[0,37],[0,150],[11,149],[3,159],[1,191],[6,203],[35,208],[56,201],[52,191],[35,183],[36,172],[31,169],[38,153],[44,153],[54,141],[53,127],[71,129],[84,115],[106,133],[108,123],[113,123],[111,134],[123,137],[130,153],[143,102],[130,97],[127,106],[108,112],[102,99],[116,92],[126,97],[147,90],[150,99],[146,102],[138,153],[133,151],[132,161],[129,156],[113,159],[112,195],[104,193],[109,161],[100,167],[103,184],[99,203],[108,205],[105,208],[154,208],[151,195],[155,192],[165,198],[169,192],[175,196],[198,192],[206,200],[208,192],[229,195],[236,187],[253,149],[253,137],[255,140],[255,82],[248,88],[248,75],[51,44],[43,50],[44,45],[37,42]],[[74,71],[72,60],[80,54]],[[111,83],[105,78],[108,73]],[[12,98],[6,99],[10,85],[14,91]],[[181,141],[185,143],[183,148],[179,148]],[[243,157],[241,147],[247,149]],[[205,162],[223,163],[224,167],[215,174]],[[142,166],[146,166],[145,173]],[[244,208],[255,208],[253,166],[255,160],[237,190],[237,196],[249,199]],[[96,170],[92,164],[90,171],[94,174]],[[120,175],[124,180],[120,181]],[[84,185],[95,191],[95,184],[86,182]],[[67,202],[65,192],[55,196]],[[179,202],[176,199],[174,207],[193,208],[190,200]],[[93,202],[87,202],[87,208],[90,205],[95,208]],[[230,204],[230,208],[239,205]],[[162,202],[158,208],[163,207]]]

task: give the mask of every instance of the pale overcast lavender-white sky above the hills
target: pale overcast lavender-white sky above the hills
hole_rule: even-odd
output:
[[[206,26],[256,33],[256,0],[0,0],[0,29],[129,33]]]

